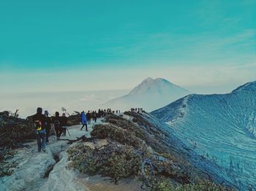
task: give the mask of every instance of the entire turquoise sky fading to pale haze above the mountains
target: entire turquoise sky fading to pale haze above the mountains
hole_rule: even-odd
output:
[[[126,89],[164,77],[199,93],[256,80],[256,1],[1,1],[1,92]]]

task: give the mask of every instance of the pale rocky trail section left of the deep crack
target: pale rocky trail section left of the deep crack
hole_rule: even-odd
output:
[[[94,124],[89,125],[88,132],[85,128],[80,130],[81,125],[69,127],[70,136],[67,133],[67,136],[62,136],[61,139],[74,140],[83,135],[89,137]],[[11,161],[18,163],[18,168],[11,176],[1,177],[0,190],[39,190],[39,187],[47,182],[50,171],[61,159],[60,153],[67,148],[67,141],[57,141],[55,136],[50,136],[46,152],[37,152],[36,141],[25,145],[26,147],[18,149],[18,152],[11,159]]]

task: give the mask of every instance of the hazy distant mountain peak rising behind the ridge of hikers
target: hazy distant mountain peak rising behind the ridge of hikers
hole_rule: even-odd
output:
[[[122,110],[143,107],[146,111],[152,111],[188,94],[188,90],[174,85],[167,79],[148,77],[127,95],[110,100],[105,106]]]

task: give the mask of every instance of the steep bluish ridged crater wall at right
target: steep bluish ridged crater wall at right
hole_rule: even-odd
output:
[[[256,82],[224,95],[187,95],[152,114],[239,190],[256,187]]]

